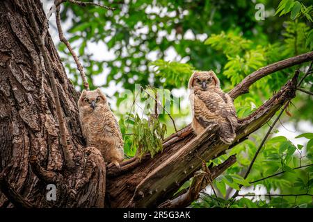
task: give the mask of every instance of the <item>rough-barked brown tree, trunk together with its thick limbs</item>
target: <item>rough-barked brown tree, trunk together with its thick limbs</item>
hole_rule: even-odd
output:
[[[168,203],[188,204],[202,186],[191,187],[181,198],[170,201],[186,180],[193,177],[202,160],[211,160],[247,139],[264,125],[285,101],[295,96],[297,76],[262,107],[240,120],[236,142],[223,144],[214,134],[216,127],[195,137],[186,126],[163,142],[163,152],[153,159],[133,158],[116,169],[95,148],[85,147],[79,126],[78,94],[67,79],[61,59],[49,33],[45,48],[52,65],[67,128],[67,144],[76,168],[64,167],[60,132],[51,85],[42,64],[29,13],[40,32],[45,13],[39,0],[31,0],[27,12],[24,1],[0,1],[0,207],[161,207]],[[247,77],[230,95],[235,99],[248,92],[255,80],[273,71],[313,60],[305,53],[264,68]],[[261,77],[259,77],[261,75]],[[211,169],[212,179],[230,167],[232,157]],[[56,185],[56,201],[46,199],[47,184]],[[186,199],[184,197],[187,197]],[[104,204],[104,199],[105,204]]]

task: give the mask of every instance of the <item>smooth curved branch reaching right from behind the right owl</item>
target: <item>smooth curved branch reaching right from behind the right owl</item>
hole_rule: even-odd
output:
[[[228,94],[232,99],[236,99],[241,94],[246,94],[249,92],[249,87],[255,83],[260,78],[263,78],[269,74],[274,73],[275,71],[279,71],[282,69],[286,69],[288,67],[292,67],[294,65],[298,65],[303,62],[308,62],[313,60],[313,52],[308,52],[301,54],[299,56],[294,56],[291,58],[287,58],[286,60],[282,60],[280,62],[275,62],[271,65],[258,69],[254,71],[252,74],[244,78],[241,83],[236,85]]]

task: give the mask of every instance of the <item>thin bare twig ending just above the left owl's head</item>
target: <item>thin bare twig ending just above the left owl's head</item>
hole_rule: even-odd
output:
[[[61,26],[61,17],[60,17],[60,6],[58,6],[58,8],[56,8],[56,27],[58,28],[58,37],[60,38],[60,41],[63,42],[67,46],[68,51],[70,51],[70,53],[72,54],[72,56],[75,60],[75,63],[77,65],[77,69],[79,70],[79,73],[81,74],[81,79],[83,80],[83,87],[85,87],[85,89],[89,90],[89,84],[88,84],[88,80],[86,78],[86,74],[83,71],[83,66],[81,65],[81,62],[79,61],[77,54],[72,49],[70,42],[67,41],[67,39],[65,38],[65,36],[63,34],[63,30],[62,30],[62,26]]]

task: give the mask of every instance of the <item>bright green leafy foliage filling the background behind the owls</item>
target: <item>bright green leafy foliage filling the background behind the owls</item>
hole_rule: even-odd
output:
[[[253,1],[227,4],[213,0],[101,2],[118,10],[111,12],[65,3],[62,19],[64,22],[70,18],[72,22],[67,35],[83,60],[92,89],[119,85],[122,89],[132,90],[134,83],[145,86],[145,90],[139,90],[141,99],[133,103],[127,114],[119,110],[122,102],[130,97],[120,97],[117,90],[112,98],[116,101],[115,114],[120,119],[125,153],[129,157],[136,153],[142,157],[144,153],[153,156],[161,152],[163,138],[174,132],[168,114],[160,112],[155,116],[152,112],[155,98],[152,99],[150,94],[153,95],[158,88],[168,89],[167,93],[172,89],[186,89],[194,70],[212,69],[220,78],[223,90],[228,92],[253,71],[313,49],[310,1],[260,1],[266,8],[264,21],[255,19]],[[95,58],[90,44],[103,46],[102,49],[110,56]],[[72,82],[81,87],[79,72],[65,46],[59,44],[58,47],[63,51]],[[169,51],[174,54],[170,59]],[[239,118],[251,114],[277,92],[293,76],[295,69],[300,69],[302,76],[307,64],[262,78],[252,85],[249,94],[237,98],[234,105]],[[100,77],[101,83],[97,81]],[[312,82],[313,76],[307,76],[303,89],[312,92]],[[171,103],[168,110],[171,112],[175,99],[171,95],[160,103],[163,106]],[[304,120],[312,124],[312,97],[298,92],[292,104],[288,114],[280,119],[282,125],[294,123],[297,128]],[[147,112],[137,112],[135,108],[138,107]],[[186,113],[172,116],[180,123],[177,124],[179,126],[188,123]],[[232,167],[214,180],[217,196],[209,191],[203,192],[192,207],[312,207],[313,134],[310,132],[291,138],[277,135],[279,131],[274,130],[257,156],[248,178],[243,179],[266,130],[268,125],[208,163],[215,166],[233,154],[237,158]],[[295,142],[298,141],[295,139],[302,139],[302,142]],[[189,181],[181,189],[188,186]],[[239,189],[242,195],[232,198],[234,191]],[[271,194],[291,195],[265,196]]]

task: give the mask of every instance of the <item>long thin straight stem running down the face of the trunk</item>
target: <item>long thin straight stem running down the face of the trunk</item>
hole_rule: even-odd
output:
[[[58,118],[58,126],[59,126],[59,130],[61,133],[61,144],[62,144],[62,148],[63,148],[63,154],[65,157],[65,165],[68,168],[72,168],[72,167],[74,167],[74,162],[72,160],[72,156],[70,155],[70,151],[68,150],[68,147],[67,147],[65,121],[64,121],[64,117],[63,117],[63,113],[62,113],[60,99],[58,98],[58,88],[56,87],[56,79],[54,78],[54,74],[52,72],[52,67],[51,67],[51,64],[49,61],[47,50],[45,49],[45,43],[43,42],[42,37],[40,35],[39,28],[37,26],[37,23],[35,22],[35,17],[33,16],[33,13],[31,13],[32,10],[31,10],[31,5],[29,3],[29,0],[26,0],[26,8],[29,12],[31,26],[33,26],[33,29],[35,31],[34,37],[38,42],[40,53],[42,53],[42,56],[45,60],[45,66],[47,68],[49,80],[51,83],[51,89],[52,89],[52,93],[54,96],[54,103],[56,103],[56,115]]]

